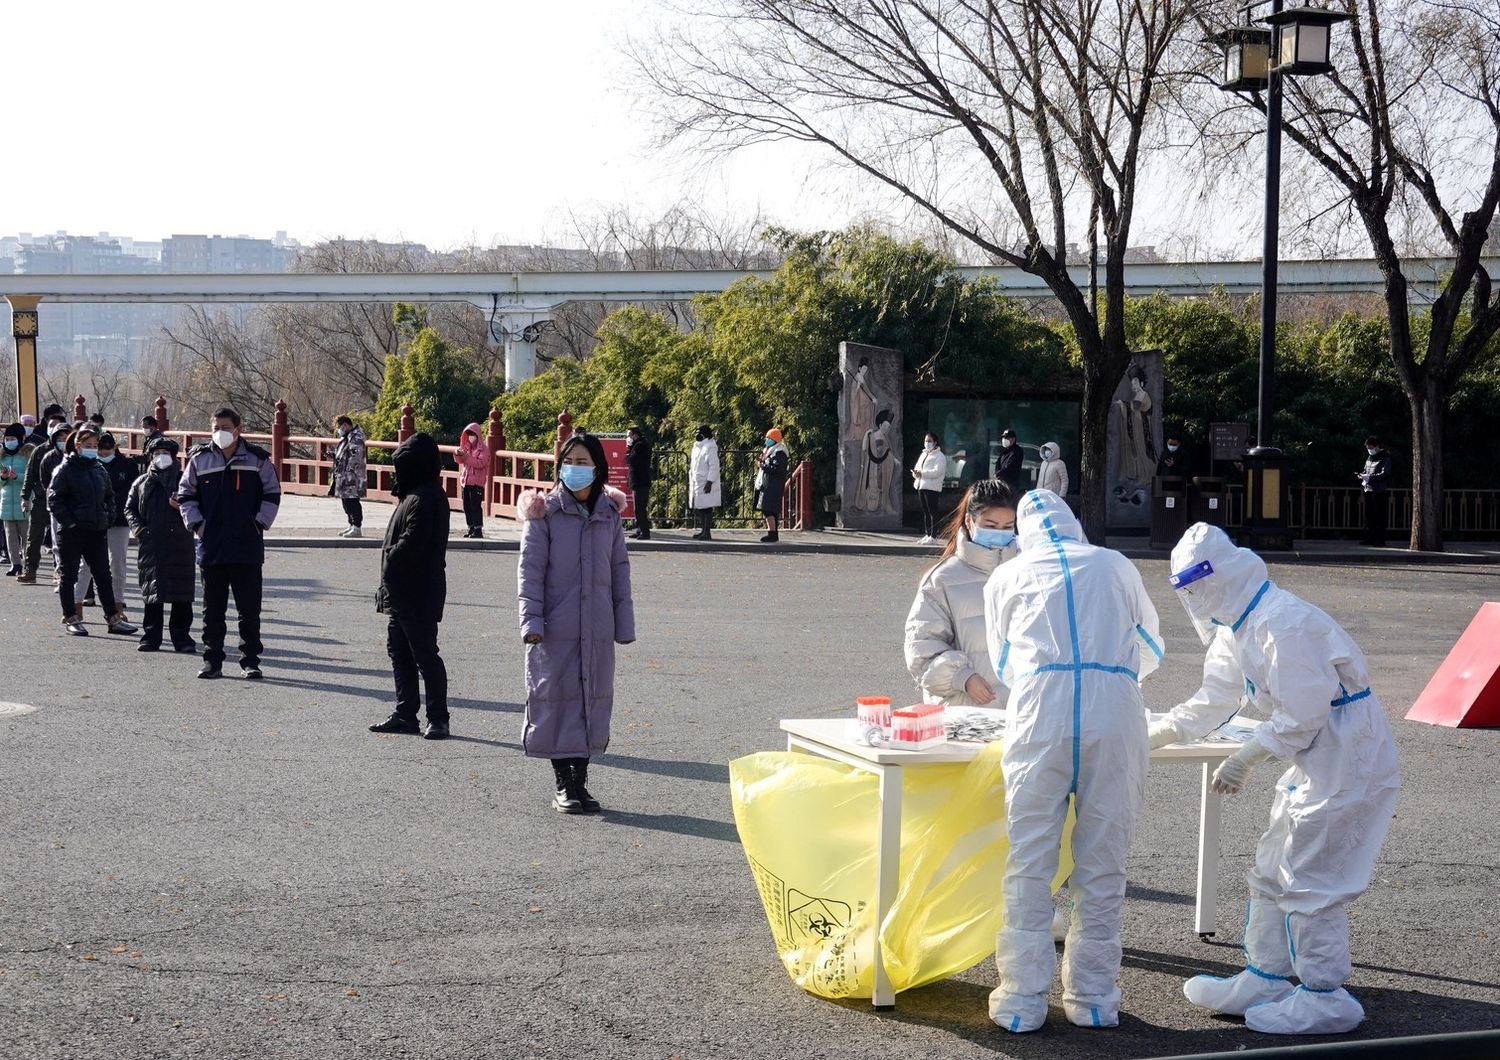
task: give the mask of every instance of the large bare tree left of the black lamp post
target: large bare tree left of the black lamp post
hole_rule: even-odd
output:
[[[1082,519],[1102,537],[1106,429],[1130,364],[1125,250],[1197,0],[710,0],[634,48],[668,139],[822,148],[1041,277],[1083,361]],[[1090,298],[1070,235],[1102,238]]]

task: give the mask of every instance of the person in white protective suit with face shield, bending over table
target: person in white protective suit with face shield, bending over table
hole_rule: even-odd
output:
[[[1215,771],[1214,790],[1242,790],[1266,759],[1290,763],[1248,876],[1245,970],[1197,976],[1184,993],[1214,1012],[1244,1015],[1251,1030],[1350,1032],[1365,1011],[1344,990],[1347,906],[1370,886],[1400,787],[1365,657],[1338,622],[1278,588],[1260,556],[1216,526],[1191,526],[1172,550],[1172,570],[1209,651],[1203,687],[1152,723],[1152,747],[1204,736],[1244,697],[1269,720]]]

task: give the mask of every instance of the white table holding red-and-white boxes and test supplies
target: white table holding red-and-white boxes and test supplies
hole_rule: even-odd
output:
[[[993,708],[963,708],[964,712],[1004,711]],[[1233,723],[1254,726],[1254,718],[1236,717]],[[1232,724],[1233,724],[1232,723]],[[818,754],[842,762],[856,769],[867,769],[880,780],[880,826],[876,840],[876,924],[885,922],[885,915],[896,901],[900,886],[902,856],[902,771],[908,768],[939,766],[974,762],[984,744],[948,741],[922,751],[897,751],[885,747],[870,747],[852,738],[848,718],[789,718],[782,721],[788,751]],[[1172,744],[1150,753],[1152,762],[1180,766],[1200,766],[1203,792],[1198,798],[1198,892],[1194,912],[1194,930],[1198,937],[1215,931],[1218,915],[1218,862],[1220,862],[1220,796],[1214,795],[1209,778],[1215,766],[1239,750],[1239,744],[1227,741],[1204,741],[1198,744]],[[880,960],[880,933],[874,936],[874,994],[870,999],[878,1009],[896,1006],[896,991],[885,975]]]

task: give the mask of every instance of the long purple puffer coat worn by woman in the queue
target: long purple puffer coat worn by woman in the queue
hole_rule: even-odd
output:
[[[522,745],[534,759],[588,759],[609,747],[615,645],[636,639],[618,490],[594,514],[561,486],[522,493],[520,636],[526,645]]]

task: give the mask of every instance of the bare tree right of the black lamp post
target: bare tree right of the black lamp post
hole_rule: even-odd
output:
[[[1412,549],[1443,547],[1449,394],[1500,333],[1482,261],[1500,205],[1500,7],[1494,0],[1340,0],[1334,73],[1287,78],[1282,130],[1328,178],[1323,216],[1364,229],[1384,279],[1390,360],[1412,411]],[[1220,19],[1234,21],[1221,3]],[[1216,135],[1264,129],[1258,94],[1218,109]],[[1336,226],[1336,225],[1335,225]],[[1442,294],[1406,268],[1452,258]],[[1430,264],[1426,265],[1431,267]]]

